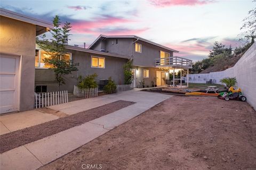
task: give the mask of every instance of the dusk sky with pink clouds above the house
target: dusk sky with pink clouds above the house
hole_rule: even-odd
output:
[[[102,35],[137,35],[179,50],[193,61],[207,57],[214,41],[233,48],[252,1],[2,1],[14,12],[73,26],[69,45],[89,46]]]

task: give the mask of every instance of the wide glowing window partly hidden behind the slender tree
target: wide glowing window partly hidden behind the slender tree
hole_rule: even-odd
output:
[[[51,53],[50,53],[51,54]],[[45,58],[51,58],[51,55],[45,52],[44,50],[36,49],[36,56],[35,56],[35,67],[36,68],[50,68],[51,64],[45,63]],[[63,60],[71,60],[71,53],[65,54],[61,59]]]

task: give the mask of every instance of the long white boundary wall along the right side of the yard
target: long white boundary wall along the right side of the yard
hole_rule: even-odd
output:
[[[256,43],[244,53],[233,67],[207,74],[190,74],[188,82],[205,83],[212,79],[215,81],[214,83],[221,84],[220,79],[226,77],[236,77],[237,86],[242,89],[247,102],[256,110]]]

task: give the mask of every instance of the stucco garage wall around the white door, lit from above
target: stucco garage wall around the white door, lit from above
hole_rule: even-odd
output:
[[[0,53],[22,56],[19,111],[33,109],[36,26],[4,16],[1,16],[0,24]]]

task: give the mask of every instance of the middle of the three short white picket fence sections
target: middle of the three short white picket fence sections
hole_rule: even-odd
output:
[[[74,95],[81,98],[98,97],[98,88],[80,89],[74,86]]]

